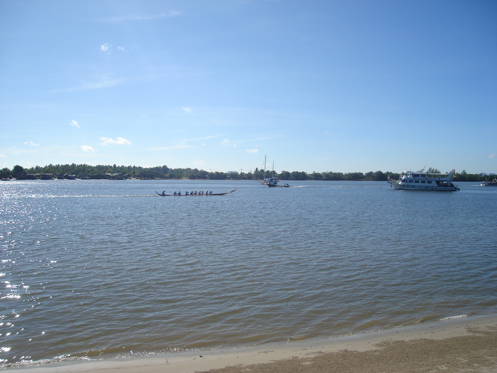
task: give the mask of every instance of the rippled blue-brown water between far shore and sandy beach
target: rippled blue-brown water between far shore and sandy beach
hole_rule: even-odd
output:
[[[497,311],[497,188],[290,184],[1,183],[3,363],[249,345]]]

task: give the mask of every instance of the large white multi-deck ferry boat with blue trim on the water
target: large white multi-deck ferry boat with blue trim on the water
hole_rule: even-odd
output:
[[[448,174],[423,174],[422,171],[404,171],[399,180],[387,177],[387,183],[396,189],[402,190],[449,190],[456,191],[459,188],[452,184],[455,171]]]

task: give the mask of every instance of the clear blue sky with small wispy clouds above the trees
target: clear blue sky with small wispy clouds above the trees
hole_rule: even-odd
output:
[[[495,1],[0,1],[0,166],[497,172]]]

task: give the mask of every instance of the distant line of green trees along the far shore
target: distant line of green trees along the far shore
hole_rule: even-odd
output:
[[[191,168],[176,168],[170,169],[166,165],[157,167],[140,167],[140,166],[125,166],[125,165],[77,165],[67,164],[67,165],[46,165],[46,166],[34,166],[31,168],[23,168],[16,165],[12,170],[8,168],[3,168],[0,170],[0,178],[22,178],[27,174],[74,174],[77,177],[82,175],[94,175],[94,174],[121,174],[130,175],[134,178],[139,179],[204,179],[204,180],[252,180],[252,179],[262,179],[264,178],[263,170],[255,168],[253,172],[209,172],[205,170],[191,169]],[[429,168],[427,173],[440,173],[439,170],[435,168]],[[274,173],[275,177],[281,180],[325,180],[325,181],[352,181],[352,180],[371,180],[371,181],[386,181],[387,176],[393,179],[398,179],[399,174],[394,172],[367,172],[363,174],[362,172],[313,172],[311,174],[305,171],[281,171],[279,174]],[[265,173],[265,177],[271,177],[271,173]],[[494,175],[477,175],[468,174],[465,170],[461,173],[455,175],[455,180],[460,182],[482,182],[487,180],[493,180],[496,178]]]

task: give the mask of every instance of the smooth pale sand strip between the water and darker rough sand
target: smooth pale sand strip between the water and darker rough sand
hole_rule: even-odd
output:
[[[262,369],[265,368],[263,365],[270,363],[282,365],[283,370],[279,369],[278,372],[292,372],[295,367],[287,367],[288,369],[285,370],[285,365],[297,364],[303,368],[304,365],[314,364],[313,359],[315,357],[323,357],[326,354],[338,353],[339,351],[346,350],[353,355],[351,359],[355,359],[357,358],[357,352],[366,353],[369,351],[373,354],[379,354],[374,352],[374,350],[379,350],[382,346],[378,346],[378,344],[382,342],[387,346],[389,344],[400,343],[400,341],[409,342],[418,340],[417,342],[423,344],[434,340],[447,340],[451,337],[475,338],[475,335],[479,336],[480,334],[471,333],[468,331],[468,328],[485,330],[487,332],[494,330],[495,333],[495,330],[497,330],[496,327],[497,314],[454,316],[453,318],[424,321],[381,331],[332,338],[315,337],[244,348],[164,353],[133,358],[120,357],[101,360],[63,361],[45,365],[8,367],[3,369],[15,369],[16,371],[26,371],[26,373],[28,370],[31,373],[83,373],[96,371],[115,373],[122,372],[123,369],[129,373],[156,373],[159,371],[166,373],[193,373],[219,369],[226,372],[231,372],[235,369],[233,372],[239,372],[242,367],[257,365],[251,368],[259,367]],[[474,342],[471,343],[472,346],[475,344]],[[490,353],[489,356],[492,357],[494,355]],[[380,357],[380,355],[373,355],[373,358],[375,356],[378,359]],[[305,361],[300,362],[300,360],[296,360],[294,357],[304,359]],[[395,360],[394,357],[392,359]],[[491,361],[491,363],[496,364],[494,366],[496,370],[486,370],[485,372],[497,372],[497,358],[494,359],[495,361]],[[465,359],[458,360],[462,361]],[[468,362],[468,360],[465,361]],[[248,369],[244,370],[247,371]],[[253,369],[251,370],[253,371]],[[441,370],[445,369],[441,368]]]

